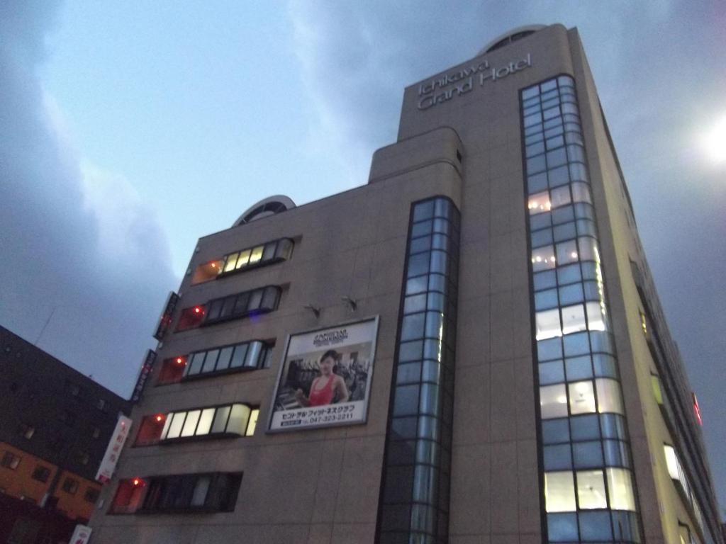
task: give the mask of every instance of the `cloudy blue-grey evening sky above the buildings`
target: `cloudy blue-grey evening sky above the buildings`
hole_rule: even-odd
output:
[[[726,161],[706,149],[726,123],[724,4],[389,4],[1,2],[0,324],[129,395],[199,236],[269,194],[364,184],[404,86],[562,22],[595,73],[726,504]]]

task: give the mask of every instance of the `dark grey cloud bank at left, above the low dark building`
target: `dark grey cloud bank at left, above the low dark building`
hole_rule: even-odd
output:
[[[127,395],[176,284],[166,236],[123,180],[102,176],[89,202],[35,75],[58,4],[0,9],[0,324],[31,342],[42,331],[39,347]],[[123,232],[116,247],[101,236],[109,228]]]

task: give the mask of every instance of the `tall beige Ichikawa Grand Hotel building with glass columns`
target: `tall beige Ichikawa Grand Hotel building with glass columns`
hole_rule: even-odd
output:
[[[404,92],[368,183],[200,239],[99,543],[724,542],[575,29]]]

